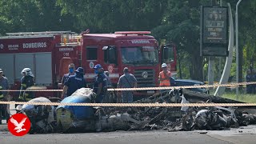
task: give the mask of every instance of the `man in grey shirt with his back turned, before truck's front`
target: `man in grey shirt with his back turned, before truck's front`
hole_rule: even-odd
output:
[[[133,74],[129,73],[129,69],[123,69],[122,76],[118,80],[118,88],[135,88],[137,87],[137,79]],[[130,90],[122,90],[122,102],[130,103],[134,101],[133,92]]]

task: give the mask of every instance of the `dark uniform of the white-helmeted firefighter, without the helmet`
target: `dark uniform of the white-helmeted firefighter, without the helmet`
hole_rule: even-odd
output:
[[[31,77],[30,75],[23,76],[21,79],[21,90],[26,90],[30,86],[34,86],[34,77]],[[30,101],[34,98],[34,93],[32,91],[21,91],[19,96],[24,101]]]

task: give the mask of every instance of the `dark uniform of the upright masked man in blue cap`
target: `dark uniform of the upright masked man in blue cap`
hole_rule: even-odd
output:
[[[106,74],[101,73],[98,74],[95,78],[94,78],[94,93],[97,94],[98,92],[98,85],[102,83],[102,91],[101,93],[96,97],[95,102],[96,103],[102,103],[103,98],[105,96],[106,93],[106,86],[107,86],[107,78],[106,78]]]

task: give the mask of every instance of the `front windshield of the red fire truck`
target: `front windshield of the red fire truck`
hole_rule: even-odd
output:
[[[133,65],[158,63],[158,50],[153,46],[122,47],[122,62]]]

